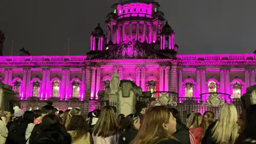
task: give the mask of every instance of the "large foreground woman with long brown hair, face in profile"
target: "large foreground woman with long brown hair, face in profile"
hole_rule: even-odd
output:
[[[165,106],[156,106],[149,108],[144,117],[132,144],[181,144],[173,133],[176,132],[176,119]]]

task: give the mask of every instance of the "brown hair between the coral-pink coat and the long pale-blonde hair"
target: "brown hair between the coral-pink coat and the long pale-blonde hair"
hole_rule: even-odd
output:
[[[204,138],[204,134],[208,128],[208,126],[215,121],[215,114],[212,111],[205,111],[203,115],[203,120],[200,125],[201,127],[201,135],[199,141],[201,142]]]

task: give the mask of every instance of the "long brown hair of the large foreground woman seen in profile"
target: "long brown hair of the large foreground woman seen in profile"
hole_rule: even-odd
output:
[[[149,108],[144,116],[141,128],[131,142],[132,144],[156,143],[164,139],[175,138],[163,128],[163,123],[168,123],[171,112],[165,106]],[[150,133],[150,134],[149,134]]]

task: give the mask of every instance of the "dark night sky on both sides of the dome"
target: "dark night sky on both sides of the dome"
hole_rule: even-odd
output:
[[[5,55],[85,55],[90,33],[118,0],[1,0]],[[158,0],[174,28],[180,54],[252,53],[256,47],[256,1]]]

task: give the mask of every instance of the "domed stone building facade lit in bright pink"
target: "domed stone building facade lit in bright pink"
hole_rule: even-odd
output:
[[[86,56],[0,57],[0,81],[12,85],[28,109],[51,99],[59,109],[80,107],[84,114],[97,108],[97,93],[109,86],[114,70],[144,92],[171,91],[183,98],[220,92],[230,94],[229,101],[255,84],[255,54],[178,54],[159,6],[149,0],[114,4],[106,35],[100,25],[92,31]]]

